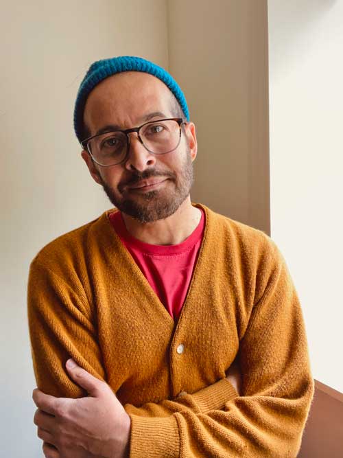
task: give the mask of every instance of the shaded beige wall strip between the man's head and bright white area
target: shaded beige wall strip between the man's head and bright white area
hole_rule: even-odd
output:
[[[198,128],[193,201],[270,231],[267,1],[168,3],[169,69]]]

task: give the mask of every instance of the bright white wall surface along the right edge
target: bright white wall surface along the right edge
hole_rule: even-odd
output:
[[[343,2],[268,1],[272,238],[307,324],[314,377],[343,391]]]

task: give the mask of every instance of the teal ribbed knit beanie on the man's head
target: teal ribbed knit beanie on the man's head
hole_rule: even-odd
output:
[[[165,71],[165,69],[141,57],[119,56],[110,59],[102,59],[97,60],[97,62],[94,62],[91,67],[89,67],[86,76],[80,84],[76,98],[74,108],[74,130],[80,142],[84,140],[81,138],[84,130],[83,115],[84,106],[86,105],[89,93],[99,84],[99,82],[121,71],[142,71],[143,73],[150,73],[150,75],[156,76],[156,78],[163,81],[175,95],[183,114],[187,121],[189,121],[189,111],[185,95],[182,93],[178,83],[167,71]]]

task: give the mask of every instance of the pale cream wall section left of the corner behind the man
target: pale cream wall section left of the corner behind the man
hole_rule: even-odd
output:
[[[80,158],[73,102],[88,66],[137,54],[167,67],[162,0],[1,2],[1,457],[36,458],[29,262],[110,207]]]

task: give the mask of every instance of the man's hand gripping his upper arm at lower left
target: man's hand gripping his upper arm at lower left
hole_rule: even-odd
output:
[[[38,407],[34,424],[43,439],[46,458],[125,458],[128,456],[130,417],[106,382],[67,361],[69,376],[88,397],[55,398],[34,389]]]

